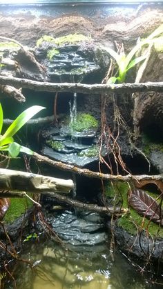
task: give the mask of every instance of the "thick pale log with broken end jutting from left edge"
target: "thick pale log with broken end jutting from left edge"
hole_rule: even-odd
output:
[[[19,190],[33,193],[48,191],[68,194],[73,189],[73,181],[1,168],[0,188],[1,190]]]

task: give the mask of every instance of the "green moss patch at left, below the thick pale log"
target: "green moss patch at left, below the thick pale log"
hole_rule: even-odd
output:
[[[32,207],[32,201],[28,198],[13,198],[11,199],[10,207],[8,208],[3,221],[12,223],[26,212],[28,208]]]

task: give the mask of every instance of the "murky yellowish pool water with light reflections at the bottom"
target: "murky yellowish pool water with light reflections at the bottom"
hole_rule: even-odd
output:
[[[27,264],[15,267],[17,289],[149,288],[121,253],[116,252],[115,261],[111,260],[107,244],[100,250],[92,246],[79,252],[79,248],[65,250],[46,241],[33,244],[21,257],[35,263],[32,270]],[[6,288],[13,287],[8,284]]]

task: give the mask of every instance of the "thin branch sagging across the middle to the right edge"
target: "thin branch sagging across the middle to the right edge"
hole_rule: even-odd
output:
[[[83,175],[85,177],[94,177],[98,179],[108,179],[111,181],[133,181],[135,186],[139,186],[141,181],[163,181],[162,175],[110,175],[104,174],[102,172],[93,172],[88,170],[87,168],[78,168],[77,166],[70,165],[68,163],[62,163],[61,161],[54,161],[49,159],[48,157],[44,157],[42,155],[34,152],[32,157],[34,157],[37,161],[41,163],[47,163],[50,166],[54,166],[55,168],[59,168],[60,170],[66,170],[69,172],[75,172],[76,174]],[[139,187],[140,188],[140,187]]]

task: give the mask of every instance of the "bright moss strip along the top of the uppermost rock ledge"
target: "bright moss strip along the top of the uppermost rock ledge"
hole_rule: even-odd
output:
[[[44,35],[43,37],[37,40],[37,46],[41,46],[43,42],[50,42],[50,43],[56,44],[57,46],[60,46],[66,43],[75,44],[77,42],[88,41],[88,40],[90,40],[90,37],[86,37],[83,34],[77,34],[77,33],[68,34],[65,36],[57,37],[57,38]]]

